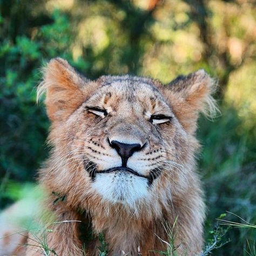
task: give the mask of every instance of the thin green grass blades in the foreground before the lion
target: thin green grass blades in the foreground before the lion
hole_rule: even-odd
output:
[[[232,213],[231,213],[232,214]],[[200,255],[195,255],[195,256],[207,256],[207,255],[219,255],[219,250],[221,250],[221,247],[225,246],[226,244],[230,243],[231,240],[226,238],[226,235],[228,232],[232,232],[232,228],[256,228],[256,225],[248,223],[246,220],[242,219],[236,214],[235,217],[240,219],[242,223],[239,222],[234,222],[234,221],[229,221],[223,219],[226,217],[226,214],[221,214],[220,217],[217,219],[217,223],[215,226],[212,228],[211,231],[208,233],[210,234],[210,238],[206,242],[206,245],[204,248],[202,248],[203,252]],[[152,251],[157,253],[158,255],[162,256],[186,256],[186,252],[183,253],[183,255],[178,255],[177,253],[177,248],[178,246],[174,246],[175,240],[176,240],[176,235],[174,232],[174,228],[177,223],[177,219],[174,222],[172,226],[170,226],[168,223],[163,224],[163,228],[165,232],[167,233],[168,240],[164,241],[160,237],[158,237],[157,234],[156,237],[161,240],[161,242],[166,246],[165,251]],[[52,225],[63,225],[68,221],[57,221],[53,222],[50,224]],[[15,234],[20,234],[22,236],[25,236],[28,238],[26,235],[24,235],[24,232],[30,232],[32,237],[28,238],[28,242],[25,244],[25,246],[34,246],[34,247],[39,247],[42,249],[42,252],[44,253],[45,256],[60,256],[58,255],[53,248],[50,248],[48,246],[48,241],[47,241],[47,235],[49,232],[53,232],[50,228],[48,228],[49,225],[47,226],[38,226],[30,228],[29,230],[23,231],[23,232],[17,232]],[[225,228],[223,226],[226,226]],[[11,234],[12,235],[12,234]],[[8,235],[9,236],[9,235]],[[7,236],[6,236],[7,237]],[[5,238],[5,237],[3,237]],[[0,238],[0,239],[3,239]],[[99,243],[100,246],[98,247],[98,255],[99,256],[107,256],[108,255],[108,244],[105,241],[104,234],[100,233],[98,235]],[[30,244],[29,241],[34,241],[36,244]],[[83,248],[83,255],[86,255],[86,247],[84,246]],[[214,254],[217,253],[217,254]],[[255,240],[253,242],[250,242],[246,239],[246,246],[242,252],[243,254],[240,255],[248,255],[248,256],[255,256],[256,255],[256,250],[255,250]],[[123,252],[123,255],[129,256],[129,254],[126,254]],[[138,256],[142,256],[143,254],[140,253],[140,247],[138,247]],[[131,256],[131,255],[130,255]]]

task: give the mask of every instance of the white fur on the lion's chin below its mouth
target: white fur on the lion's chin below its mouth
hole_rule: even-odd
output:
[[[129,172],[97,173],[92,187],[104,200],[136,207],[139,199],[149,197],[147,179]]]

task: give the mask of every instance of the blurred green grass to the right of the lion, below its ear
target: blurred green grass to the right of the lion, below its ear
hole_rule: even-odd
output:
[[[211,129],[209,129],[211,127]],[[248,222],[256,222],[255,124],[246,127],[233,106],[221,106],[221,116],[214,122],[201,119],[198,136],[204,150],[200,155],[200,171],[205,182],[208,206],[206,230],[221,212],[229,211]],[[235,220],[228,214],[228,219]],[[242,255],[246,239],[253,242],[254,229],[232,229],[231,242],[220,248],[218,255]],[[228,254],[230,253],[230,254]]]

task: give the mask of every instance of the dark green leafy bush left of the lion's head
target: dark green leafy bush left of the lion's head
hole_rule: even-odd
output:
[[[5,19],[8,22],[8,17]],[[24,31],[24,35],[17,35],[15,39],[10,33],[7,36],[3,33],[0,38],[1,178],[8,175],[19,181],[32,180],[47,155],[45,139],[49,121],[45,110],[36,105],[39,68],[52,57],[71,59],[66,45],[72,41],[68,17],[56,10],[51,19],[51,24],[34,28],[30,37]],[[77,64],[86,66],[82,59]]]

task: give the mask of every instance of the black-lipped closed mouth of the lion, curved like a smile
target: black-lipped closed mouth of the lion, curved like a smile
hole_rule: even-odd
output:
[[[145,178],[145,179],[147,179],[147,183],[149,185],[151,185],[153,183],[154,179],[156,179],[161,173],[161,170],[159,169],[159,167],[157,169],[151,170],[148,176],[144,176],[144,175],[132,170],[129,167],[119,166],[119,167],[113,167],[113,168],[110,168],[107,170],[99,171],[96,166],[97,165],[95,163],[93,163],[92,161],[90,161],[89,163],[88,162],[84,163],[85,170],[89,173],[92,181],[95,180],[96,174],[106,174],[106,173],[119,171],[119,172],[129,172],[129,173],[133,174],[134,176]]]

